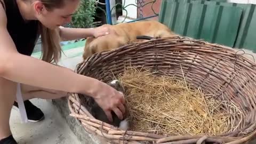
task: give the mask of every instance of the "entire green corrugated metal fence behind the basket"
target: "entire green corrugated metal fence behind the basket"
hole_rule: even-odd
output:
[[[256,52],[254,4],[226,0],[163,0],[159,22],[182,36]]]

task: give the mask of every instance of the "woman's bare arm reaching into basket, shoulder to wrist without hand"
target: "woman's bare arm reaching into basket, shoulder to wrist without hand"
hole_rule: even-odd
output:
[[[2,12],[0,13],[2,15]],[[2,77],[47,89],[92,94],[89,92],[93,90],[91,84],[97,84],[97,80],[18,53],[6,29],[6,20],[0,20],[0,23],[0,74]]]

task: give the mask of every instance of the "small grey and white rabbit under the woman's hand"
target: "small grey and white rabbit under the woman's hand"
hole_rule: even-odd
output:
[[[118,80],[111,81],[110,83],[108,83],[108,85],[110,85],[111,87],[113,87],[117,91],[122,92],[124,94],[124,88],[121,85],[121,82],[119,82]],[[119,129],[124,130],[124,131],[129,129],[131,119],[129,117],[130,114],[129,114],[128,108],[125,109],[125,114],[124,114],[123,119],[119,119],[117,117],[117,115],[114,113],[114,111],[111,111],[111,114],[113,116],[113,122],[110,122],[107,118],[107,115],[102,110],[102,108],[98,105],[98,103],[95,102],[93,98],[90,98],[90,97],[86,97],[86,98],[87,98],[87,101],[85,102],[85,107],[86,107],[87,110],[90,111],[89,113],[91,113],[91,115],[95,119],[98,119],[102,122],[105,122],[105,123],[108,123],[108,124],[111,124],[111,125],[114,125],[114,126],[118,127]]]

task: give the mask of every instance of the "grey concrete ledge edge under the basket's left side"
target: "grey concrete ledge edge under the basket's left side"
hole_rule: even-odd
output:
[[[68,108],[67,98],[52,100],[52,103],[59,110],[62,117],[65,118],[71,131],[76,135],[77,139],[81,141],[82,144],[101,144],[106,143],[97,136],[85,131],[82,124],[74,117],[69,116],[70,110]]]

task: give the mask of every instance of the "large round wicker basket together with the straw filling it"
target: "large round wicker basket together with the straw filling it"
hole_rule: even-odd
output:
[[[158,77],[141,71],[145,75],[134,83],[127,78],[127,67],[150,69]],[[106,83],[113,75],[121,78],[129,105],[137,106],[131,109],[137,125],[134,130],[122,131],[93,118],[79,95],[69,93],[70,115],[86,131],[109,143],[240,144],[256,134],[256,65],[229,47],[182,37],[157,38],[94,54],[75,71]],[[151,81],[144,79],[147,76]],[[151,89],[149,94],[146,89]],[[139,105],[142,102],[143,107]],[[165,110],[166,105],[171,106]]]

